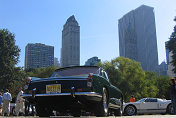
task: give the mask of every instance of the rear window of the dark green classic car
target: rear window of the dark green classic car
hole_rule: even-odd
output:
[[[98,74],[98,67],[70,67],[55,71],[51,77],[87,76],[89,73]]]

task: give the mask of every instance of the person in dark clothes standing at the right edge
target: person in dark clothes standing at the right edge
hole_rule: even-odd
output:
[[[176,114],[176,84],[175,84],[175,78],[170,79],[170,96],[171,96],[171,102],[173,106],[173,114]]]

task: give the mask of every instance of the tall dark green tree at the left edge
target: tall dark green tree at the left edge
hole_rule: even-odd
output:
[[[9,88],[13,81],[19,52],[20,49],[15,45],[15,35],[7,29],[0,29],[0,89]]]

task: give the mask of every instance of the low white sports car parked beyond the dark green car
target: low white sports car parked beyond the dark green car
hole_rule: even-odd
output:
[[[171,100],[159,98],[143,98],[137,102],[124,103],[123,105],[124,114],[129,116],[144,113],[172,114],[173,112]]]

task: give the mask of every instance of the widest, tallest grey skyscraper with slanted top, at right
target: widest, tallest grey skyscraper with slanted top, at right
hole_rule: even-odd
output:
[[[118,22],[120,56],[141,63],[145,71],[158,70],[154,8],[142,5]]]

